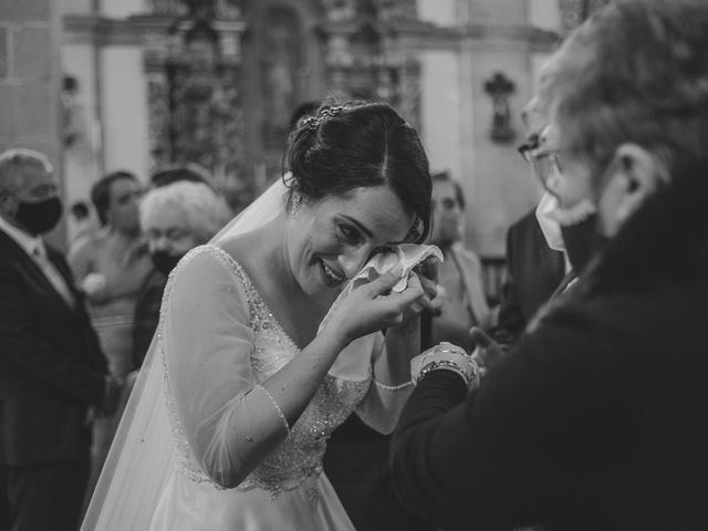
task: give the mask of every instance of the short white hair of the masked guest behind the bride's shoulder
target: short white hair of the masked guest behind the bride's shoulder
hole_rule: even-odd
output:
[[[140,201],[140,225],[149,227],[157,212],[174,210],[199,243],[206,243],[230,219],[226,201],[205,183],[180,180],[150,189]]]

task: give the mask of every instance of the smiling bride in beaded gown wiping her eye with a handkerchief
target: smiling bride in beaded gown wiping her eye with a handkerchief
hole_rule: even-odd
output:
[[[325,441],[354,410],[393,430],[434,284],[406,257],[342,288],[423,241],[428,163],[400,116],[364,103],[301,121],[287,165],[170,275],[82,530],[354,529],[322,473]]]

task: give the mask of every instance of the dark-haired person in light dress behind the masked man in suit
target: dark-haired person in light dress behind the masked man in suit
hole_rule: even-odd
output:
[[[77,242],[69,256],[77,285],[88,302],[108,371],[122,378],[135,368],[133,315],[139,289],[152,269],[140,237],[142,194],[140,183],[131,173],[114,171],[102,177],[91,189],[102,229]],[[101,472],[119,413],[94,423],[91,485]]]

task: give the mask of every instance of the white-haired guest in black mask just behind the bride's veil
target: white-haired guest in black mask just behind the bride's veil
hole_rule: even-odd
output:
[[[196,179],[168,183],[149,190],[140,204],[140,226],[154,268],[135,305],[136,366],[142,365],[157,329],[167,277],[188,250],[207,243],[230,219],[226,201],[207,184]]]

